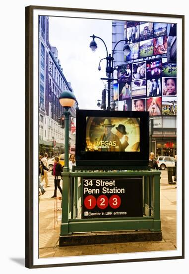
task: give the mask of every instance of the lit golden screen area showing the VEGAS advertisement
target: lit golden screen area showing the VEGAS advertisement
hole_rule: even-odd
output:
[[[140,151],[139,141],[139,118],[86,117],[85,151]]]

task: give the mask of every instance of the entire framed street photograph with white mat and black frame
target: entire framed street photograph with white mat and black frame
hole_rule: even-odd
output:
[[[184,65],[184,15],[26,7],[27,268],[184,258]]]

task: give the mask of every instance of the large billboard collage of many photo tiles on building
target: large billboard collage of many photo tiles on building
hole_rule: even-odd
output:
[[[117,67],[116,110],[177,115],[177,25],[125,21],[130,53]]]

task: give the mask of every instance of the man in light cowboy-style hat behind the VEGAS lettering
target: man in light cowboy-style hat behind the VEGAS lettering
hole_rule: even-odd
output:
[[[104,134],[98,141],[98,151],[121,151],[121,141],[117,135],[112,133],[115,125],[112,125],[111,119],[105,119],[101,126],[104,128]]]

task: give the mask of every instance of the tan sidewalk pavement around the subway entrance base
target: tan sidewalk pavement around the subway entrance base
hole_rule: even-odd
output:
[[[49,182],[50,187],[45,188],[39,203],[39,258],[176,250],[177,188],[168,184],[167,170],[162,171],[160,181],[162,241],[59,247],[61,210],[55,211],[57,200],[51,198],[54,179],[50,173]],[[57,193],[60,195],[59,189]]]

